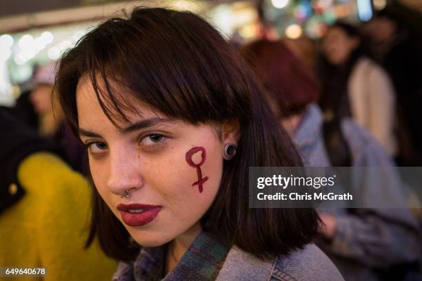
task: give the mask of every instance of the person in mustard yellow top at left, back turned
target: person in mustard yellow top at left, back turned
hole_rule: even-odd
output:
[[[44,268],[13,280],[110,280],[117,262],[88,238],[91,187],[39,138],[0,107],[0,264]]]

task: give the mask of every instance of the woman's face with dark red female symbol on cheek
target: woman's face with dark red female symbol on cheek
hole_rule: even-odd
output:
[[[169,120],[138,103],[141,114],[117,129],[103,113],[89,79],[77,88],[81,141],[88,145],[95,187],[139,244],[156,247],[199,223],[217,195],[223,143],[216,127]],[[198,183],[199,182],[199,183]],[[128,190],[129,197],[122,198]]]

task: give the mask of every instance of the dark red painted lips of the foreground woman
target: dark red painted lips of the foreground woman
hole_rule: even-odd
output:
[[[161,211],[161,206],[155,205],[145,205],[145,204],[119,204],[117,209],[120,211],[121,218],[126,225],[131,227],[141,227],[142,225],[147,225],[157,218],[159,212]],[[130,213],[132,211],[140,211],[141,213]]]

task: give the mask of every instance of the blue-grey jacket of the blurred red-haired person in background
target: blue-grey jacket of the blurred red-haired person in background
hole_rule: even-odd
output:
[[[294,139],[305,165],[330,166],[322,124],[319,107],[310,105]],[[341,122],[341,130],[348,141],[353,166],[392,169],[394,163],[368,131],[348,118]],[[395,176],[393,170],[387,174]],[[380,180],[384,180],[383,184],[376,186],[385,187],[388,180],[396,178]],[[400,190],[394,192],[400,194]],[[379,194],[383,194],[383,190],[380,189]],[[336,236],[329,244],[323,241],[317,244],[333,260],[345,280],[378,280],[373,268],[418,259],[419,227],[409,209],[356,209],[355,214],[336,209],[332,214],[336,217]]]

